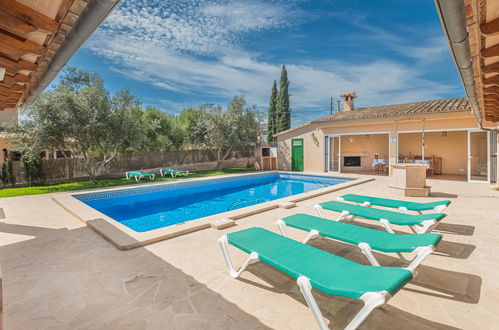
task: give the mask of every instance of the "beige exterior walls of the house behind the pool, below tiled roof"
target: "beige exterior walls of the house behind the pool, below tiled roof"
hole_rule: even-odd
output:
[[[484,126],[496,127],[496,124],[486,122]],[[279,170],[291,170],[291,139],[303,138],[304,170],[324,172],[324,137],[335,134],[342,135],[342,140],[344,140],[344,135],[349,134],[373,134],[372,136],[374,136],[374,133],[388,133],[389,161],[390,164],[395,164],[397,161],[397,142],[400,142],[396,139],[397,133],[421,132],[423,129],[426,135],[433,140],[433,146],[429,145],[429,154],[426,151],[425,154],[437,155],[437,153],[441,153],[448,158],[442,164],[444,173],[463,174],[461,171],[463,165],[467,165],[467,133],[465,130],[478,129],[475,118],[469,112],[311,123],[277,136],[278,168]],[[447,131],[448,139],[442,139],[441,133],[427,132],[432,130]],[[462,131],[454,132],[454,130]],[[417,142],[419,143],[418,148],[421,150],[420,140]],[[499,145],[499,141],[497,143]],[[342,153],[345,152],[344,146],[345,142],[343,141]],[[419,151],[420,153],[421,151]],[[466,167],[464,168],[466,169]]]

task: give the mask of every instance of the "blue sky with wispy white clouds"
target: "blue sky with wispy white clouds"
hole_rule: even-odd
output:
[[[464,95],[433,1],[123,0],[69,62],[172,114],[239,94],[266,111],[283,64],[293,125],[344,92],[356,108]]]

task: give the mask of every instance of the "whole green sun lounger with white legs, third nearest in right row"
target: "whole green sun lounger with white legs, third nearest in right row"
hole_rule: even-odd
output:
[[[314,207],[321,218],[324,218],[322,210],[328,210],[341,213],[336,221],[353,220],[357,217],[377,220],[390,233],[393,233],[391,224],[409,226],[413,232],[418,234],[430,232],[438,224],[438,221],[445,218],[444,213],[405,214],[336,201],[320,203]]]

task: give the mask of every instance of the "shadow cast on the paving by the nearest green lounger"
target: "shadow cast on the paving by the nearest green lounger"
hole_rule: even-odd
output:
[[[369,264],[360,250],[350,244],[319,238],[312,240],[310,245],[361,264]],[[382,265],[403,265],[398,258],[379,253],[375,253],[375,255]],[[264,263],[251,265],[248,267],[248,271],[264,280],[268,285],[249,280],[244,277],[244,274],[238,280],[275,293],[287,294],[302,304],[306,304],[294,278]],[[480,299],[482,280],[479,276],[424,265],[420,265],[418,273],[419,275],[410,283],[411,287],[406,286],[402,290],[473,304],[478,303]],[[419,290],[417,287],[432,291]],[[318,290],[314,290],[314,296],[324,317],[329,320],[329,325],[333,328],[344,328],[363,306],[359,300],[332,296]],[[393,329],[457,329],[424,319],[391,305],[377,308],[360,328],[386,329],[387,324]]]

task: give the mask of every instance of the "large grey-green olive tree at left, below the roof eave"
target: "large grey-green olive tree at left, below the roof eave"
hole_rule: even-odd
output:
[[[110,95],[97,75],[70,68],[11,127],[18,150],[57,150],[81,160],[90,181],[118,154],[147,143],[155,121],[137,120],[140,102],[127,90]]]

